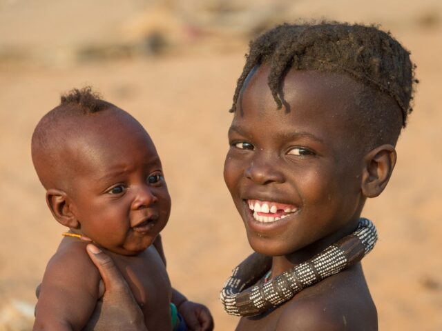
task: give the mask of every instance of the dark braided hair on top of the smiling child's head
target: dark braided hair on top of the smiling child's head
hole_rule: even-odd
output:
[[[278,109],[281,83],[290,69],[342,72],[386,93],[402,111],[402,126],[412,112],[415,66],[410,52],[376,26],[322,22],[277,26],[251,41],[249,54],[233,96],[231,112],[256,66],[270,68],[268,84]]]

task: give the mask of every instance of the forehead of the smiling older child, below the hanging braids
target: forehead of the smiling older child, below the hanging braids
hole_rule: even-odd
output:
[[[358,105],[358,95],[363,83],[347,74],[291,70],[282,83],[282,109],[278,109],[268,75],[269,68],[262,66],[244,84],[233,130],[261,138],[266,137],[264,131],[271,131],[284,141],[302,133],[302,137],[335,141],[336,145],[360,136],[363,108]]]

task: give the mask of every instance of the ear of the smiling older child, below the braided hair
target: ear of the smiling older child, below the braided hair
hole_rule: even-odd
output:
[[[361,190],[365,197],[377,197],[384,190],[396,164],[396,150],[391,145],[381,145],[365,155]]]

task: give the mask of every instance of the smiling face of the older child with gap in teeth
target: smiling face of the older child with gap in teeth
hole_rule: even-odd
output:
[[[261,66],[243,88],[229,130],[224,179],[253,250],[279,256],[356,225],[363,145],[358,82],[343,74],[290,71],[278,110]],[[356,137],[356,139],[355,139]]]

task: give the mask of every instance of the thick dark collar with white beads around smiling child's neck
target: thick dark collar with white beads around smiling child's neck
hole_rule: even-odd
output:
[[[352,234],[267,282],[260,279],[270,270],[271,257],[253,253],[233,270],[224,284],[220,294],[224,310],[247,317],[276,308],[303,288],[361,261],[374,248],[377,239],[374,224],[368,219],[359,219],[358,228]]]

